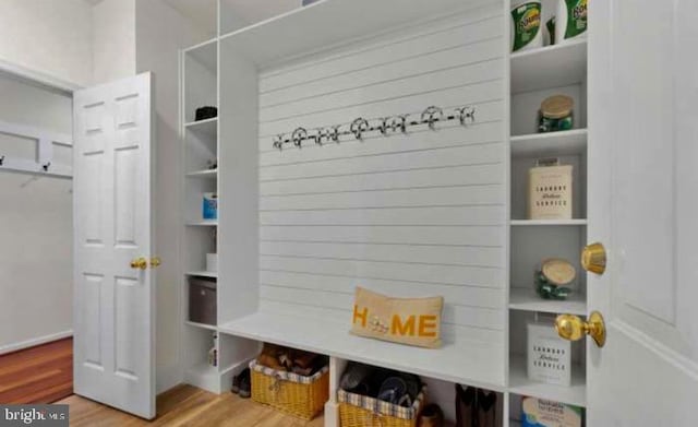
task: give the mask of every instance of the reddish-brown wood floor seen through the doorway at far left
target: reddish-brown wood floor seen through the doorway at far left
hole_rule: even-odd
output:
[[[73,340],[0,356],[0,403],[52,403],[73,394]]]

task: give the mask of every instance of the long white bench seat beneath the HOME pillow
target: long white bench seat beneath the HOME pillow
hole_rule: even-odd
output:
[[[494,391],[505,389],[504,348],[493,344],[453,343],[446,339],[441,348],[419,348],[351,335],[348,322],[264,311],[222,324],[218,330],[444,381]]]

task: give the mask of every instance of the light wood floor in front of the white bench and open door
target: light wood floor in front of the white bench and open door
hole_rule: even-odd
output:
[[[70,405],[70,425],[99,427],[322,427],[322,416],[304,422],[240,399],[230,392],[213,394],[191,386],[178,386],[157,398],[158,416],[146,422],[99,403],[72,395],[57,403]]]

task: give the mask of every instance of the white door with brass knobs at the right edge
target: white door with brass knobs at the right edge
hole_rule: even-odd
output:
[[[590,1],[588,425],[698,426],[698,1]]]

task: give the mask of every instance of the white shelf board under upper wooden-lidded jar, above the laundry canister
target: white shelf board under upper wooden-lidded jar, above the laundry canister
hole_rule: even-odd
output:
[[[512,157],[585,155],[587,129],[512,137]]]

